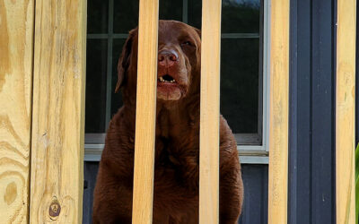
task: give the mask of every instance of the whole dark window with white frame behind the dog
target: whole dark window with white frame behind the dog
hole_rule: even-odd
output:
[[[138,0],[89,0],[85,159],[100,159],[110,118],[122,105],[114,93],[118,57],[137,26]],[[160,1],[160,19],[200,28],[201,0]],[[241,155],[267,154],[267,0],[223,0],[221,113]],[[257,160],[258,161],[258,160]]]

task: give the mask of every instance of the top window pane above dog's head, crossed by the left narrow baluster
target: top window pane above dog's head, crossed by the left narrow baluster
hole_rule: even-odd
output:
[[[138,0],[114,1],[114,27],[115,33],[127,33],[138,24]],[[160,1],[161,20],[182,21],[182,0]]]

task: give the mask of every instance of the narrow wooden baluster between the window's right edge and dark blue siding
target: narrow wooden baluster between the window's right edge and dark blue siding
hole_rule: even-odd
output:
[[[268,223],[287,223],[289,1],[271,3]]]

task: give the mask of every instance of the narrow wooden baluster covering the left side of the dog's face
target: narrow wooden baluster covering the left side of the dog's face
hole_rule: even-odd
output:
[[[152,223],[158,0],[140,0],[132,223]]]

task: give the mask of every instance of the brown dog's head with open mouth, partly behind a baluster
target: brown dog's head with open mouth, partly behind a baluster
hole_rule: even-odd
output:
[[[182,22],[160,21],[157,99],[179,100],[199,93],[200,31]],[[131,30],[118,61],[116,91],[136,95],[138,30]]]

